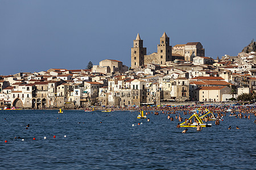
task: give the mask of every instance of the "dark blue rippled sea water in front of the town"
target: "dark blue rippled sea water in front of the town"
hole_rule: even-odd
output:
[[[255,116],[182,134],[166,114],[149,114],[150,122],[137,115],[0,111],[0,169],[256,169]]]

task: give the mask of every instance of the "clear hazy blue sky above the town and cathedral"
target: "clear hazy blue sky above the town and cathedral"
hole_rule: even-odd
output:
[[[130,66],[137,33],[147,53],[200,41],[205,56],[236,56],[255,39],[256,1],[0,1],[0,75],[85,69],[103,59]]]

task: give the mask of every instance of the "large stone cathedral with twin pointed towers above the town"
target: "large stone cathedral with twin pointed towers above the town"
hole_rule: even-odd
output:
[[[131,48],[131,69],[152,63],[155,65],[166,65],[168,61],[175,59],[184,59],[185,61],[193,61],[196,56],[204,57],[203,45],[200,42],[188,42],[187,44],[178,44],[174,48],[170,46],[170,37],[166,32],[160,37],[158,44],[158,52],[147,55],[147,48],[143,47],[143,40],[139,33],[133,40],[133,48]]]

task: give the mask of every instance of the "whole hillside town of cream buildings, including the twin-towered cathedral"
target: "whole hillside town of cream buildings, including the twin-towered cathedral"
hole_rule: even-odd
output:
[[[131,67],[104,59],[92,69],[49,69],[0,76],[0,107],[83,108],[177,102],[223,102],[256,94],[256,53],[205,57],[200,42],[170,45],[164,32],[148,54],[137,35]]]

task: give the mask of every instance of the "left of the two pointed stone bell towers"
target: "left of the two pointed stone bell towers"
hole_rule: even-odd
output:
[[[144,55],[147,53],[147,48],[143,48],[143,40],[139,37],[133,40],[133,48],[131,48],[131,69],[144,66]]]

